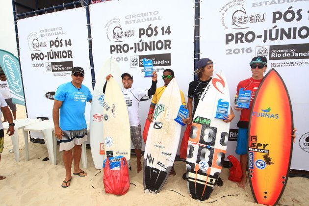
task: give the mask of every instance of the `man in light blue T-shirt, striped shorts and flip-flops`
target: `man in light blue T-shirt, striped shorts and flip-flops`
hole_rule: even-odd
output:
[[[87,175],[86,172],[79,168],[81,145],[87,141],[87,137],[85,136],[87,132],[85,107],[86,102],[91,103],[92,100],[92,95],[88,87],[81,84],[84,80],[84,75],[84,70],[81,67],[73,67],[72,81],[61,84],[54,96],[52,119],[55,126],[55,136],[60,139],[60,152],[63,151],[63,164],[66,170],[66,176],[61,186],[64,188],[71,184],[71,166],[73,159],[73,174],[79,177],[85,177]]]

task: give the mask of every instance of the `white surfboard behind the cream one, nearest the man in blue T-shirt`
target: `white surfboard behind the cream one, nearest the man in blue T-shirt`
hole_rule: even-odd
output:
[[[122,85],[119,67],[112,57],[105,60],[99,73],[97,73],[91,101],[89,136],[92,159],[96,169],[102,169],[103,167],[103,86],[105,77],[109,74],[112,74],[118,84]]]

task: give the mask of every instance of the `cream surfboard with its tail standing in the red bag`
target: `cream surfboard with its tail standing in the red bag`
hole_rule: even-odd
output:
[[[124,95],[113,77],[107,81],[103,106],[104,157],[124,156],[130,161],[129,113]]]

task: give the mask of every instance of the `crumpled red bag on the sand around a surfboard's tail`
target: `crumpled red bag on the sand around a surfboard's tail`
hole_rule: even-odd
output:
[[[126,157],[121,158],[119,170],[111,170],[109,158],[107,158],[103,171],[103,184],[106,193],[114,195],[124,195],[128,192],[130,182]]]

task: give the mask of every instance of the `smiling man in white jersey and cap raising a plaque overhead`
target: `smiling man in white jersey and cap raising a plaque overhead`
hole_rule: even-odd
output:
[[[106,77],[106,82],[103,87],[103,93],[105,93],[106,83],[109,78],[112,77],[108,75]],[[129,73],[124,73],[121,75],[122,83],[124,88],[122,89],[122,93],[124,94],[128,112],[129,112],[129,121],[130,121],[130,133],[131,133],[131,141],[134,146],[134,151],[137,158],[137,173],[142,171],[141,165],[141,157],[142,157],[142,133],[141,133],[141,125],[139,123],[138,118],[138,104],[143,97],[154,95],[156,90],[157,83],[157,74],[154,71],[152,77],[152,85],[150,89],[139,89],[132,88],[133,84],[133,76]]]

